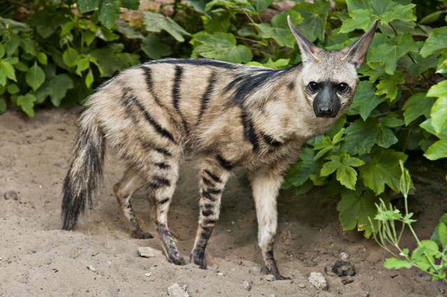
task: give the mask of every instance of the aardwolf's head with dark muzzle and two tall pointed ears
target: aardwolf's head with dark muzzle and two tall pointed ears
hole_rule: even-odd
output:
[[[336,117],[340,108],[349,106],[356,93],[356,69],[365,61],[378,21],[348,47],[324,50],[302,36],[290,17],[287,20],[301,52],[302,71],[297,83],[302,96],[314,108],[316,117]]]

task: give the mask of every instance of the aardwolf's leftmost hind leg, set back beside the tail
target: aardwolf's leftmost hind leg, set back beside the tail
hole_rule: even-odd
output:
[[[122,179],[113,186],[113,191],[117,197],[119,207],[121,208],[124,217],[131,223],[131,235],[134,238],[153,238],[151,233],[143,232],[140,229],[140,224],[135,217],[131,205],[132,194],[145,185],[145,180],[140,177],[137,171],[129,168],[123,175]]]

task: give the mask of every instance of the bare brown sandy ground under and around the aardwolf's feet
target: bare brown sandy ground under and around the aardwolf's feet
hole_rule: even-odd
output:
[[[207,249],[215,264],[208,270],[191,264],[174,266],[164,256],[138,256],[139,246],[161,249],[161,242],[150,223],[143,191],[135,195],[133,205],[142,229],[155,238],[129,238],[112,195],[112,184],[122,174],[113,157],[108,158],[95,208],[82,217],[78,229],[61,231],[61,181],[77,115],[78,110],[56,109],[41,110],[34,118],[16,112],[0,115],[1,297],[159,297],[168,296],[168,287],[175,282],[186,285],[191,297],[447,296],[446,284],[430,282],[416,269],[384,269],[386,252],[361,233],[342,231],[335,210],[337,199],[318,189],[303,196],[281,192],[275,251],[279,269],[292,280],[265,280],[258,271],[262,260],[256,243],[256,217],[244,171],[235,173],[223,194],[221,219]],[[444,175],[439,173],[439,179]],[[416,205],[421,210],[416,229],[427,238],[440,215],[447,212],[445,190],[441,183],[439,187],[416,186]],[[186,160],[169,213],[170,227],[186,258],[196,233],[197,204],[196,166]],[[340,252],[350,255],[357,270],[349,284],[325,273]],[[325,275],[328,291],[312,287],[307,281],[312,272]],[[151,273],[149,277],[147,273]],[[250,291],[244,289],[244,281],[251,282]]]

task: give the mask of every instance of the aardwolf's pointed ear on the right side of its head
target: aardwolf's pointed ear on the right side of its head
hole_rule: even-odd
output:
[[[374,33],[376,33],[376,27],[379,23],[379,20],[376,20],[371,28],[363,34],[357,41],[354,41],[351,45],[343,50],[340,50],[340,54],[342,55],[342,59],[346,61],[350,61],[356,68],[360,67],[365,61],[369,45],[372,42],[372,38],[374,37]]]

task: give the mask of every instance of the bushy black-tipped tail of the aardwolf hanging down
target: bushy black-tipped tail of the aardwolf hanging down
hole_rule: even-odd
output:
[[[73,159],[62,190],[64,230],[71,230],[76,226],[80,212],[85,211],[87,201],[91,205],[92,195],[103,175],[105,140],[99,124],[88,116],[84,117],[75,141]]]

